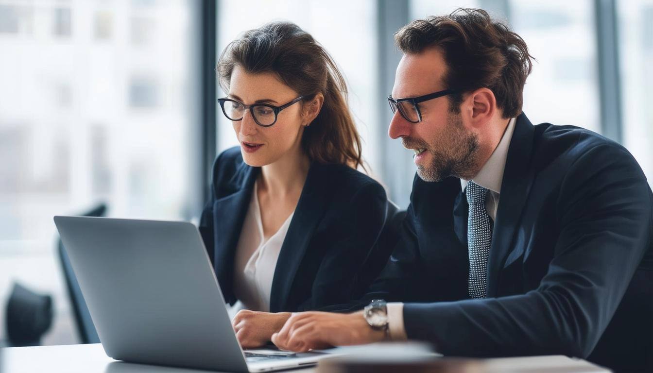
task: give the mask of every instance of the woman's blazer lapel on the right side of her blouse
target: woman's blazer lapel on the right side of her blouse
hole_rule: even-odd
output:
[[[322,170],[323,166],[317,163],[313,163],[308,170],[295,214],[279,251],[270,293],[270,312],[287,308],[295,274],[304,259],[313,231],[326,210],[329,188]]]

